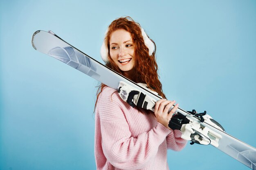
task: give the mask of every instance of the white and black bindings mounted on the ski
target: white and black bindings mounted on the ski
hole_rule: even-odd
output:
[[[141,87],[146,88],[146,84],[144,83],[137,83]],[[158,95],[156,92],[150,90],[151,92]],[[156,100],[150,96],[147,96],[139,89],[135,88],[134,86],[125,83],[124,81],[119,82],[118,86],[118,94],[122,100],[128,102],[128,104],[132,107],[141,107],[147,110],[155,111],[155,102]],[[171,107],[172,109],[173,107]],[[170,109],[170,110],[171,110]],[[224,131],[223,127],[213,120],[211,116],[206,114],[206,111],[203,113],[197,113],[195,110],[188,111],[192,114],[192,116],[196,116],[200,118],[200,121],[195,121],[190,119],[189,115],[184,116],[180,112],[177,112],[171,118],[168,126],[175,130],[180,130],[182,132],[182,139],[190,140],[191,144],[202,144],[202,145],[209,145],[212,144],[215,147],[218,147],[218,142],[222,138],[220,134],[211,131],[206,126],[203,126],[201,122],[207,122],[213,127],[216,127],[220,131]]]

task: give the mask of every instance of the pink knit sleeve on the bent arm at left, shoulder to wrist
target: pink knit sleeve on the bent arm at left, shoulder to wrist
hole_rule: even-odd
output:
[[[155,157],[158,147],[170,133],[160,123],[153,129],[132,137],[117,92],[103,90],[98,101],[102,149],[108,161],[120,169],[141,169]],[[141,125],[143,126],[143,125]]]

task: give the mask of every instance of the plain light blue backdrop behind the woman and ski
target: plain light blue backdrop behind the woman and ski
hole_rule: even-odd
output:
[[[0,169],[93,170],[99,83],[31,46],[52,30],[101,61],[107,26],[128,15],[157,45],[168,99],[206,110],[256,146],[256,1],[0,1]],[[246,170],[213,146],[168,150],[170,169]]]

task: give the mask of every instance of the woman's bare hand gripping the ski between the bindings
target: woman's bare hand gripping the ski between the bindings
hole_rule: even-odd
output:
[[[171,109],[170,113],[168,113],[168,111],[175,104],[175,102],[175,100],[169,101],[166,99],[161,99],[155,103],[155,116],[157,118],[157,122],[161,123],[168,129],[170,129],[168,127],[169,121],[171,120],[173,113],[175,113],[175,111],[179,107],[179,104],[175,105],[175,107]]]

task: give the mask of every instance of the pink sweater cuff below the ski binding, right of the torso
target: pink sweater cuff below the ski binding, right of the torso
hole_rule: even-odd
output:
[[[187,140],[181,138],[182,132],[179,130],[172,130],[166,137],[167,149],[175,151],[182,150],[187,143]]]

